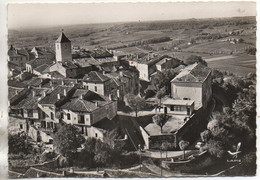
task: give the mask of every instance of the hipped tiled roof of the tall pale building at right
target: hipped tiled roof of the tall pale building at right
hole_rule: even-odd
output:
[[[194,63],[183,69],[171,82],[203,82],[211,69],[201,63]]]

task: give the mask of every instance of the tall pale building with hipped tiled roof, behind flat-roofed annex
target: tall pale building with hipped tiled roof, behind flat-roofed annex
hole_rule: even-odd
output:
[[[211,69],[202,64],[192,64],[171,80],[171,97],[194,100],[195,110],[206,108],[212,97]]]

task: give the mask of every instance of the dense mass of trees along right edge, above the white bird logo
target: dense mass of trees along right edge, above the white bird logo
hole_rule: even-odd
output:
[[[249,74],[241,78],[219,72],[215,75],[214,78],[224,79],[223,82],[215,83],[224,89],[226,95],[232,92],[233,97],[229,98],[232,105],[212,115],[207,130],[201,133],[201,139],[205,142],[202,148],[219,158],[238,142],[242,142],[243,150],[254,149],[256,143],[255,76]]]

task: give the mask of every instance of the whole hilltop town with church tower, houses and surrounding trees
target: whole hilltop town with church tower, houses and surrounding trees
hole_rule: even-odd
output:
[[[8,50],[10,177],[229,175],[254,162],[254,73],[86,49],[63,30],[53,47]]]

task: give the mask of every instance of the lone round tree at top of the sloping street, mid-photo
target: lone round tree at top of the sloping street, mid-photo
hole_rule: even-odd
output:
[[[138,95],[134,94],[127,94],[126,95],[126,100],[130,108],[135,111],[135,116],[137,118],[137,113],[138,111],[142,110],[146,106],[146,102],[144,98],[141,98]]]

